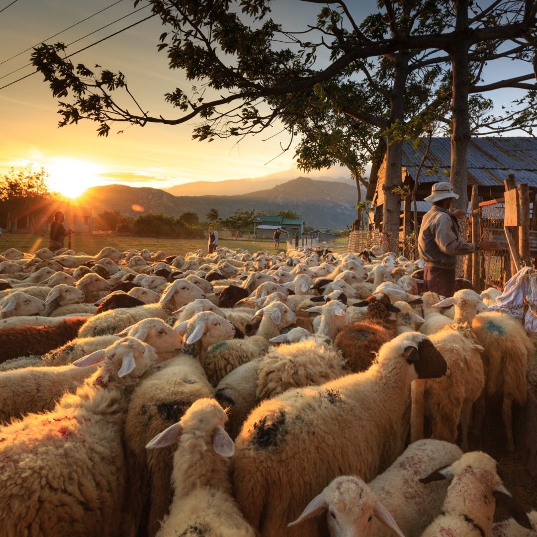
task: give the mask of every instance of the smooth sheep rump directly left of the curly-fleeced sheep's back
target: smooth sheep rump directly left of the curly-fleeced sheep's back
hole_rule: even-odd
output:
[[[216,384],[215,398],[228,409],[226,430],[235,439],[244,420],[257,404],[257,368],[262,358],[238,366]]]

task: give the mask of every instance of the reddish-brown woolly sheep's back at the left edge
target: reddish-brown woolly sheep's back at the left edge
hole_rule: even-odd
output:
[[[86,322],[84,317],[66,318],[60,323],[47,326],[19,326],[0,329],[0,362],[44,354],[76,338],[79,328]]]

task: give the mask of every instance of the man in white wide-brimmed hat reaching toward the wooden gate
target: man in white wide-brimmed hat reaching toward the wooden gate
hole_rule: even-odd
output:
[[[473,243],[461,239],[456,216],[465,213],[461,209],[449,212],[452,201],[458,198],[459,194],[453,192],[447,181],[435,183],[431,195],[425,198],[433,206],[423,217],[418,236],[419,255],[425,261],[424,291],[434,291],[446,297],[455,292],[455,256],[500,248],[497,242]]]

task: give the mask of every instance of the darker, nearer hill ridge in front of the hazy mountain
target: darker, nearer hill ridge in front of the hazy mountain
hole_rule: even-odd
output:
[[[212,208],[223,218],[238,208],[269,214],[290,209],[301,214],[308,226],[331,229],[345,229],[356,217],[355,186],[307,177],[241,195],[175,196],[158,188],[110,185],[89,188],[84,197],[88,204],[92,200],[97,213],[117,210],[134,217],[143,213],[179,216],[192,211],[205,220]]]

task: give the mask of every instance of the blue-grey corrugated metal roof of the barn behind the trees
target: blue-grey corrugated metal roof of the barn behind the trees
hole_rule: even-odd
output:
[[[403,144],[402,165],[410,175],[416,172],[427,140],[415,149],[411,142]],[[433,138],[429,155],[419,176],[420,183],[436,183],[449,177],[451,140]],[[433,169],[437,167],[437,169]],[[513,173],[517,183],[537,186],[537,139],[530,136],[485,136],[470,140],[468,148],[468,182],[484,186],[503,186]]]

